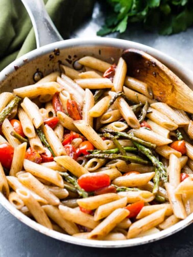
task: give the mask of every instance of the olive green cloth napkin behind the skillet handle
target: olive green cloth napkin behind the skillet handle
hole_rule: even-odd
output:
[[[94,0],[44,0],[45,7],[64,39],[88,18]],[[33,4],[33,0],[32,0]],[[30,17],[20,0],[0,0],[0,70],[36,48]]]

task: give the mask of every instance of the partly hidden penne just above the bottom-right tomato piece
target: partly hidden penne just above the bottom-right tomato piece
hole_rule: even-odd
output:
[[[149,191],[126,191],[119,192],[118,195],[120,197],[127,197],[128,203],[133,203],[140,200],[150,202],[155,198],[155,196]]]

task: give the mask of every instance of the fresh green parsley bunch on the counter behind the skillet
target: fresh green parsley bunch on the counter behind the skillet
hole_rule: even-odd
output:
[[[110,15],[97,35],[123,33],[131,22],[162,35],[185,31],[193,24],[193,0],[107,0]]]

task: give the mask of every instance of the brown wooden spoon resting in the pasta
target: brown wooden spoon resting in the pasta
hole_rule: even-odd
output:
[[[154,57],[137,49],[122,54],[128,66],[128,75],[146,82],[158,101],[193,113],[193,91],[170,69]]]

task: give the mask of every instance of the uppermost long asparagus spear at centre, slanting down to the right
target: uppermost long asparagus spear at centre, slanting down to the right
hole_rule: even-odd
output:
[[[132,141],[137,142],[141,145],[145,145],[147,147],[154,148],[154,149],[156,148],[156,144],[152,144],[150,142],[146,142],[142,139],[139,139],[139,138],[135,137],[133,135],[133,133],[127,134],[125,132],[118,132],[118,131],[113,131],[113,130],[110,130],[110,129],[101,129],[100,132],[102,132],[102,133],[108,133],[109,132],[113,135],[117,135],[118,137],[124,137],[124,138],[127,138],[127,139],[131,139]]]

